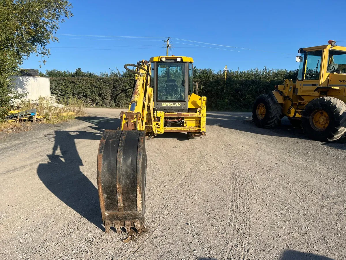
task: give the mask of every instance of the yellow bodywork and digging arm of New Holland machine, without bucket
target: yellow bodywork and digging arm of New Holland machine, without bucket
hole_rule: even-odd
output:
[[[162,58],[167,60],[177,60],[180,58],[182,63],[192,63],[190,57],[175,56],[158,56],[150,59],[149,62],[140,62],[142,67],[146,67],[147,71],[152,71],[152,65],[159,62]],[[187,132],[191,136],[203,136],[206,134],[206,116],[207,116],[207,98],[189,93],[187,97],[188,106],[186,111],[158,111],[154,110],[155,89],[152,87],[152,77],[148,76],[148,72],[141,68],[137,68],[136,83],[133,96],[129,102],[127,112],[121,112],[120,130],[145,130],[148,136],[156,136],[164,132]],[[185,75],[187,78],[188,75]],[[179,101],[165,101],[162,104],[180,104]],[[173,109],[174,110],[174,109]],[[179,126],[165,126],[166,118],[181,118],[183,122]]]

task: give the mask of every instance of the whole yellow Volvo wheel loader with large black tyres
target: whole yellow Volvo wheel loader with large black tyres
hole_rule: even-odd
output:
[[[252,111],[261,128],[276,127],[287,116],[294,127],[319,141],[336,141],[346,132],[346,47],[335,41],[298,50],[296,83],[286,79],[257,97]]]

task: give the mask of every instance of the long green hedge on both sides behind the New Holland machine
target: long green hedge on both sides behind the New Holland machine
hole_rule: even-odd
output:
[[[284,79],[296,79],[298,70],[251,69],[222,71],[211,69],[193,69],[194,81],[199,83],[199,95],[207,97],[208,110],[251,110],[256,97],[274,86],[283,83]],[[59,101],[78,98],[90,106],[127,107],[134,81],[120,83],[128,78],[122,77],[64,77],[50,78],[51,93]],[[226,89],[226,90],[225,90]]]

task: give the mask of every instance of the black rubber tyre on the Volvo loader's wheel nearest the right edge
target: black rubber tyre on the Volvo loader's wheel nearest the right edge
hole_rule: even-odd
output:
[[[317,131],[310,124],[310,116],[316,110],[324,110],[329,116],[325,130]],[[319,97],[309,102],[302,112],[302,128],[309,138],[331,142],[343,137],[346,132],[346,105],[335,97]]]

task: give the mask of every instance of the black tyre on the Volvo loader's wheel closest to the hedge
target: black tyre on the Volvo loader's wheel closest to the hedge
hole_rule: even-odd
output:
[[[259,104],[264,104],[266,113],[263,119],[257,117],[256,110]],[[253,109],[252,118],[257,127],[274,128],[281,124],[282,106],[275,102],[274,98],[268,94],[257,97]]]

